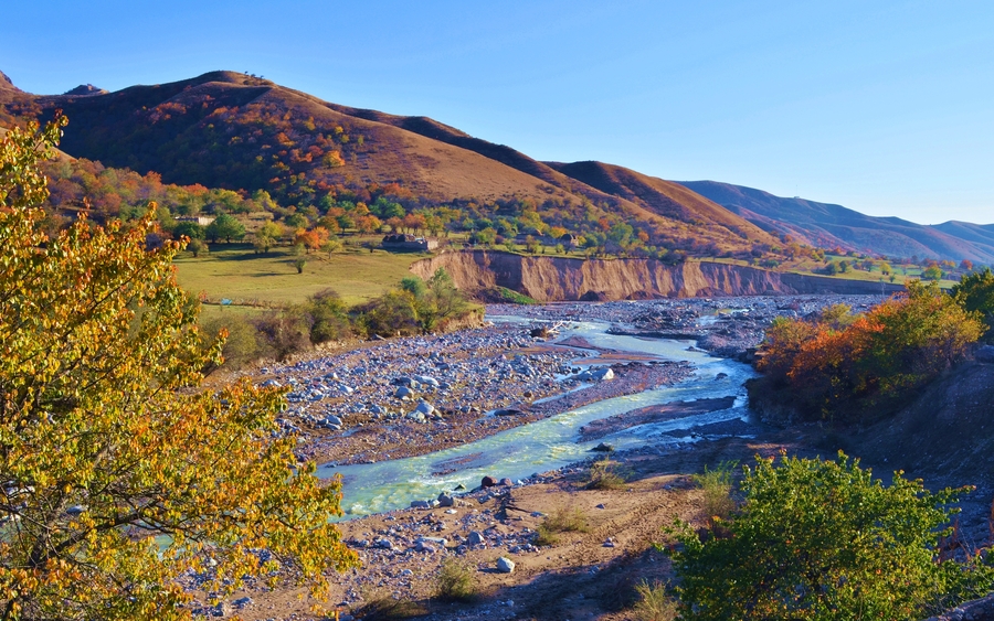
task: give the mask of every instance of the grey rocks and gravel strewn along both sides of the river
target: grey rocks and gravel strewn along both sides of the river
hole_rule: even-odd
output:
[[[796,296],[490,306],[488,317],[528,321],[369,342],[335,355],[269,365],[253,376],[263,385],[290,388],[281,433],[297,436],[300,460],[369,463],[463,445],[584,404],[676,384],[694,371],[688,363],[598,350],[582,340],[568,341],[572,346],[557,344],[554,335],[531,336],[536,326],[600,321],[612,332],[692,339],[696,347],[712,355],[747,360],[776,317],[805,317],[835,303],[861,311],[881,300]],[[643,576],[662,570],[666,561],[647,552],[651,540],[674,516],[694,518],[700,502],[688,478],[673,473],[673,463],[663,467],[666,474],[644,464],[677,459],[690,468],[679,471],[690,473],[696,467],[688,467],[687,460],[707,450],[679,451],[676,457],[652,447],[610,453],[631,472],[633,467],[649,470],[617,491],[584,491],[585,473],[598,459],[592,457],[525,481],[501,480],[495,472],[487,486],[454,490],[408,510],[342,522],[343,539],[360,554],[363,566],[332,577],[331,603],[341,619],[359,618],[369,610],[363,607],[383,598],[421,602],[426,618],[437,620],[626,619],[604,603],[617,589],[609,583],[601,593],[601,578],[615,576],[621,566],[634,571],[625,565],[630,563]],[[563,507],[579,507],[593,526],[559,544],[539,545],[537,529]],[[432,599],[446,558],[462,560],[483,586],[477,602],[443,604]],[[577,600],[573,590],[556,587],[564,575],[572,576],[577,589],[588,585],[601,599],[583,600],[581,593]],[[621,576],[612,579],[623,580]],[[191,575],[188,587],[195,591],[200,581],[202,576]],[[538,583],[548,585],[537,589]],[[516,590],[520,595],[511,597]],[[254,586],[212,607],[200,593],[197,611],[234,612],[250,621],[324,619],[308,612],[302,595],[290,586]],[[547,609],[573,612],[546,617],[541,611]]]

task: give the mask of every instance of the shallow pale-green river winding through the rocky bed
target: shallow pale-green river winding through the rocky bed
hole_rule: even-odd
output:
[[[488,319],[494,322],[522,321],[512,317]],[[580,322],[561,329],[560,334],[563,338],[580,336],[599,347],[687,361],[696,367],[694,376],[675,386],[595,401],[459,447],[378,463],[325,465],[318,469],[318,475],[341,474],[345,483],[341,506],[346,518],[359,517],[406,507],[414,500],[431,500],[459,484],[472,490],[485,475],[517,481],[532,473],[556,470],[598,454],[590,451],[602,441],[618,450],[647,446],[677,449],[698,438],[678,438],[664,432],[749,416],[742,386],[753,376],[748,365],[688,350],[694,344],[691,341],[621,336],[607,334],[607,323]],[[583,362],[579,358],[574,365],[584,366]],[[593,420],[656,404],[727,396],[736,397],[734,406],[729,409],[639,425],[591,442],[577,441],[579,429]],[[443,471],[448,473],[433,474]]]

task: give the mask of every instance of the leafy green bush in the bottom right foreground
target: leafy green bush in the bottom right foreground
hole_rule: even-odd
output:
[[[966,489],[930,493],[896,472],[884,486],[849,462],[757,458],[725,536],[678,528],[670,553],[687,619],[919,619],[994,586],[970,559],[939,561],[948,508]]]

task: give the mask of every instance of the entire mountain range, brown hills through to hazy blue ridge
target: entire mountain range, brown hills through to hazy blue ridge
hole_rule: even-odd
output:
[[[409,206],[489,204],[495,216],[537,208],[549,223],[590,231],[624,222],[651,244],[698,255],[748,253],[787,234],[822,247],[994,263],[994,225],[921,226],[602,162],[541,162],[426,117],[331,104],[234,72],[63,95],[28,94],[0,74],[0,126],[55,109],[70,118],[62,149],[71,156],[169,183],[265,190],[300,207],[389,188]]]

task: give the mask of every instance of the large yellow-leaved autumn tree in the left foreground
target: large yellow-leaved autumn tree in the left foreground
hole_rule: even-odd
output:
[[[283,568],[320,595],[357,564],[328,522],[340,481],[274,438],[283,389],[201,386],[221,344],[176,283],[180,245],[146,250],[151,218],[41,231],[64,124],[0,141],[0,614],[189,619],[190,569],[230,592]]]

